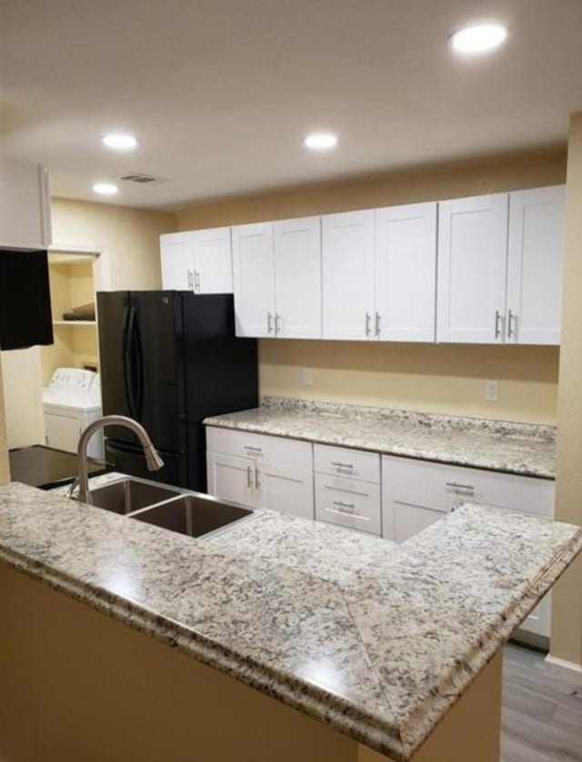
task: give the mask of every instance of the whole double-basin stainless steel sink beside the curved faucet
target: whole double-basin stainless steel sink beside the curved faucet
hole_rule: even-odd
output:
[[[94,506],[191,537],[214,534],[256,513],[216,497],[135,476],[95,486],[91,497]]]

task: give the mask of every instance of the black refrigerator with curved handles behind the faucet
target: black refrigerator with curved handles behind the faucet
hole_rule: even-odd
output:
[[[134,434],[105,429],[115,470],[206,491],[206,416],[258,404],[256,339],[235,336],[232,295],[97,294],[104,416],[139,421],[165,466],[148,471]]]

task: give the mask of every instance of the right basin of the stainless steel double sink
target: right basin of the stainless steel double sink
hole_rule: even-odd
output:
[[[182,535],[200,537],[254,513],[255,511],[242,506],[222,503],[216,500],[216,497],[193,493],[182,495],[160,506],[145,508],[129,517]]]

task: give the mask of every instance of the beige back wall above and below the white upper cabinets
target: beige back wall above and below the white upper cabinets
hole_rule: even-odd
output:
[[[506,155],[199,204],[178,213],[178,229],[553,185],[565,176],[563,150]],[[300,385],[301,367],[314,369],[313,386]],[[536,423],[556,423],[557,367],[553,347],[260,342],[262,394]],[[485,400],[487,378],[500,382],[497,403]]]

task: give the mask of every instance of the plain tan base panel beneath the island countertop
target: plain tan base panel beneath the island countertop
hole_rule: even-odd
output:
[[[4,563],[0,601],[0,760],[388,762]],[[414,762],[497,762],[499,704],[497,657]]]

